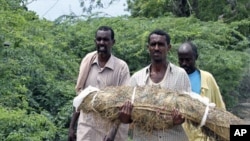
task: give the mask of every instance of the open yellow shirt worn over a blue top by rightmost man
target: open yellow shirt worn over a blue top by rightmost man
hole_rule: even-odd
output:
[[[210,102],[215,103],[216,107],[225,109],[225,103],[223,102],[220,89],[213,77],[213,75],[207,71],[199,70],[201,75],[201,96],[207,97]],[[198,108],[198,107],[197,107]],[[205,134],[201,132],[199,128],[194,127],[187,122],[182,124],[189,141],[209,141]]]

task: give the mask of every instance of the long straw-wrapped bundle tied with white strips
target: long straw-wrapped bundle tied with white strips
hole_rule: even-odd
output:
[[[217,140],[229,140],[231,124],[245,124],[242,119],[228,111],[213,107],[213,104],[204,101],[197,94],[153,86],[116,86],[92,91],[85,94],[78,108],[83,112],[94,112],[104,119],[115,122],[119,108],[127,100],[132,101],[134,106],[132,112],[134,126],[145,132],[171,128],[173,108],[179,109],[185,119],[197,125],[197,128],[203,123],[201,128],[204,133]]]

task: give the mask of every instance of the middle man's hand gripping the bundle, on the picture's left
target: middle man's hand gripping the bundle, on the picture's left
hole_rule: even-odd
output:
[[[126,101],[122,107],[120,107],[119,111],[119,119],[122,123],[131,123],[133,120],[131,119],[133,110],[133,105],[130,101]]]

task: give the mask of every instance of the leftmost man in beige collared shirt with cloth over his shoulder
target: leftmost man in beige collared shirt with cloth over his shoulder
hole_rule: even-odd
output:
[[[81,62],[76,84],[77,94],[88,86],[102,89],[107,86],[126,85],[129,82],[128,65],[111,54],[115,43],[113,29],[108,26],[99,27],[94,41],[97,51],[87,54]],[[101,117],[94,117],[92,113],[84,113],[80,109],[75,110],[70,123],[68,140],[101,141],[106,135],[105,128],[107,128],[108,121],[104,121]],[[75,135],[74,126],[77,120],[77,135]],[[123,119],[121,120],[124,122]],[[128,125],[121,124],[118,128],[116,140],[127,141]]]

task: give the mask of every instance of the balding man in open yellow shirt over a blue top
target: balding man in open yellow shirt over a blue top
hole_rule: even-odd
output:
[[[226,110],[220,89],[213,75],[196,67],[195,62],[198,59],[198,51],[195,44],[192,42],[184,42],[178,49],[178,59],[180,67],[185,69],[188,74],[192,91],[201,96],[207,97],[210,102],[216,104],[216,107]],[[199,128],[196,128],[187,122],[182,125],[189,141],[209,140],[209,138],[207,138]]]

